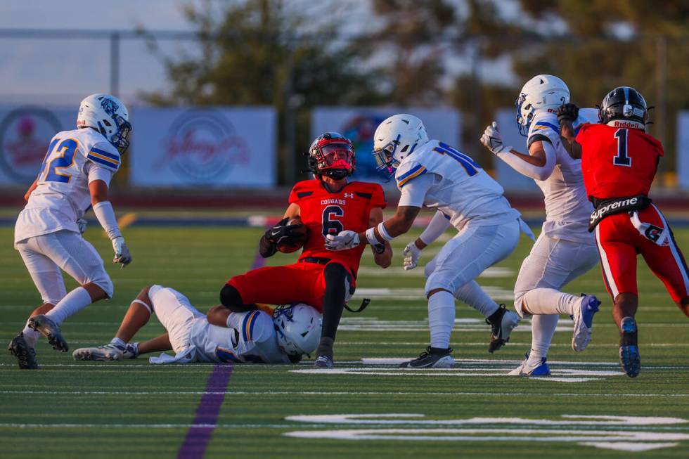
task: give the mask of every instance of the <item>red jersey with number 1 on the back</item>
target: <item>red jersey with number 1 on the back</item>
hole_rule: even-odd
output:
[[[577,134],[588,198],[648,195],[663,146],[641,129],[584,124]]]

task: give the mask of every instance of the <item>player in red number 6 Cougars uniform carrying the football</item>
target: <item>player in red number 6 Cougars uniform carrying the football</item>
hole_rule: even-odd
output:
[[[303,302],[323,313],[316,368],[333,366],[333,344],[345,302],[354,293],[356,271],[363,248],[346,252],[326,250],[325,236],[340,231],[366,231],[382,221],[385,194],[378,183],[347,181],[356,161],[352,143],[336,132],[326,132],[311,143],[309,169],[314,179],[298,182],[290,205],[278,225],[260,242],[262,257],[278,250],[281,238],[290,238],[290,219],[307,226],[307,240],[297,263],[267,266],[234,276],[220,292],[221,303],[233,312],[256,309],[256,303]],[[375,263],[383,268],[392,260],[388,243],[373,247]]]

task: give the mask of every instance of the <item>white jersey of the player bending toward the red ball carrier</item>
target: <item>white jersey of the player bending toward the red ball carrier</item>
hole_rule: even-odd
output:
[[[434,174],[424,205],[442,212],[452,226],[498,225],[520,213],[503,196],[503,187],[468,155],[432,140],[402,160],[395,172],[400,190],[418,176]]]

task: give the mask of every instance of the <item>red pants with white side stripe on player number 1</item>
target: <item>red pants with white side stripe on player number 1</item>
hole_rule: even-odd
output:
[[[638,295],[636,255],[641,254],[655,276],[662,280],[675,302],[689,295],[689,270],[665,217],[655,205],[640,211],[639,219],[669,231],[666,245],[657,245],[632,224],[627,212],[605,217],[595,227],[600,264],[607,292],[612,299],[620,293]]]

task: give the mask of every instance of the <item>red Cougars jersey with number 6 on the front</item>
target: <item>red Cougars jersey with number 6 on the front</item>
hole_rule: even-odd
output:
[[[333,251],[325,247],[325,235],[351,230],[361,233],[368,229],[373,207],[385,209],[385,193],[378,183],[353,181],[337,193],[330,193],[318,179],[298,182],[290,193],[290,204],[300,207],[302,221],[309,228],[309,237],[301,258],[321,257],[341,261],[356,276],[365,245],[350,250]]]

